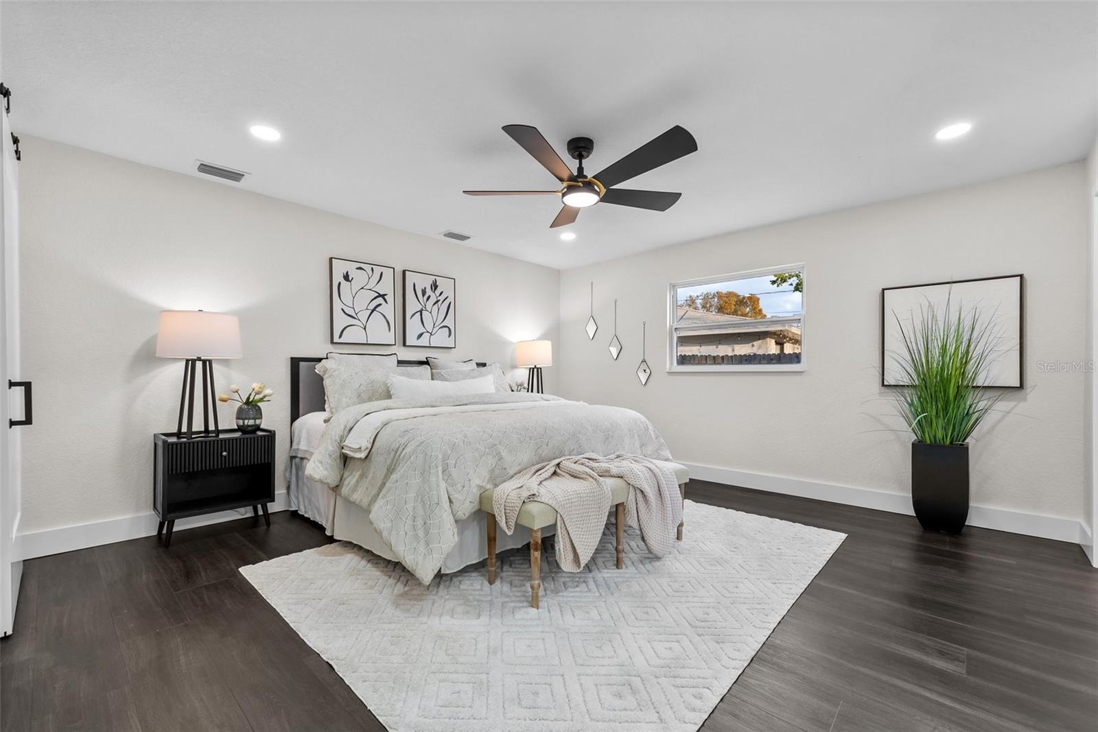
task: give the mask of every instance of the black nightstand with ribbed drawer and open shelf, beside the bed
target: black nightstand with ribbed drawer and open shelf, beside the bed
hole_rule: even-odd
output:
[[[181,439],[175,432],[153,436],[153,508],[160,518],[157,538],[171,544],[176,519],[251,506],[271,525],[267,504],[274,500],[274,431],[251,435],[223,430],[220,437]]]

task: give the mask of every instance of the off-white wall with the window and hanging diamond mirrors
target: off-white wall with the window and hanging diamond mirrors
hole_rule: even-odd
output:
[[[975,436],[972,503],[1066,519],[1051,523],[1077,533],[1086,375],[1035,364],[1086,358],[1084,177],[1082,162],[1060,166],[567,270],[561,393],[642,412],[681,461],[909,495],[911,438],[879,387],[881,288],[1022,272],[1028,386]],[[794,262],[807,266],[806,371],[664,371],[669,282]],[[591,280],[593,342],[583,331]],[[617,361],[606,350],[614,297]],[[634,371],[646,319],[653,373],[642,387]],[[887,498],[882,507],[903,504]]]

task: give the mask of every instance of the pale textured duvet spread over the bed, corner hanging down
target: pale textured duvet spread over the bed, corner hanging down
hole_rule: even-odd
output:
[[[631,409],[479,394],[343,409],[305,475],[367,509],[397,559],[427,584],[482,492],[538,463],[585,453],[671,459],[656,428]]]

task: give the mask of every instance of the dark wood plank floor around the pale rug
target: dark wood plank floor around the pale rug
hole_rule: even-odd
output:
[[[1078,547],[688,489],[850,534],[703,730],[1098,729],[1098,572]],[[0,642],[0,729],[382,730],[236,571],[327,541],[271,520],[27,562]]]

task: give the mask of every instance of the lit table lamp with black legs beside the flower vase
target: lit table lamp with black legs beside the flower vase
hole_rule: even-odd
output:
[[[156,330],[156,356],[161,359],[187,359],[183,363],[183,386],[179,393],[179,421],[176,433],[194,437],[194,370],[202,367],[202,432],[200,437],[220,437],[217,426],[217,390],[213,385],[213,362],[210,359],[238,359],[240,320],[235,315],[205,311],[160,311]],[[183,412],[187,432],[183,433]],[[213,430],[210,413],[213,412]]]

